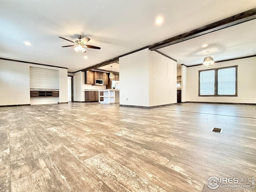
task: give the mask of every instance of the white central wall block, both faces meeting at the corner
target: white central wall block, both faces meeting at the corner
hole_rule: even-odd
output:
[[[173,60],[144,49],[119,58],[119,72],[120,105],[151,107],[177,102],[177,63]]]

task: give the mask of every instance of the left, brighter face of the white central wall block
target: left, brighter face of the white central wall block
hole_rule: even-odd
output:
[[[148,51],[119,58],[120,105],[149,106]]]

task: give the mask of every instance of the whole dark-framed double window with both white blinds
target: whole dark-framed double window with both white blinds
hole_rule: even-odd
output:
[[[237,66],[199,71],[199,96],[237,96]]]

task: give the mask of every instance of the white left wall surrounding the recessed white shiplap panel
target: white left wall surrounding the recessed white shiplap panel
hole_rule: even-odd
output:
[[[68,102],[67,69],[0,60],[0,106],[30,104],[30,66],[59,70],[58,102]]]

